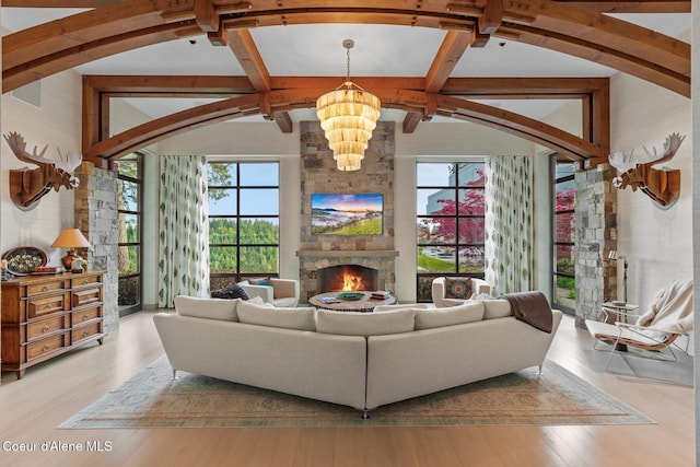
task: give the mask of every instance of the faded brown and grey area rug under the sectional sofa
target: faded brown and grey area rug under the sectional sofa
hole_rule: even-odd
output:
[[[547,361],[428,396],[382,406],[369,420],[350,407],[179,372],[163,357],[60,428],[445,427],[654,423]]]

